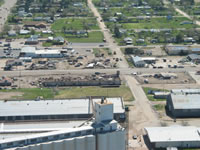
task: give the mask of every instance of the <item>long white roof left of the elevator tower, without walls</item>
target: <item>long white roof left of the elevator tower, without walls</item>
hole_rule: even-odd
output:
[[[89,99],[0,101],[0,116],[90,114]]]

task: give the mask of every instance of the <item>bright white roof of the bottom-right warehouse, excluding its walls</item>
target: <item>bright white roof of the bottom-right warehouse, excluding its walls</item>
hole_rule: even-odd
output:
[[[151,142],[200,141],[199,129],[193,126],[145,128]]]

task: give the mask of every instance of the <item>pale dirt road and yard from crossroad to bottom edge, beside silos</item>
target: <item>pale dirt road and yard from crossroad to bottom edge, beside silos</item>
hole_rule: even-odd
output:
[[[148,149],[143,140],[143,128],[147,126],[159,126],[159,118],[152,109],[141,85],[132,76],[125,76],[127,84],[135,97],[130,106],[129,111],[129,142],[130,149]],[[129,103],[130,105],[130,103]],[[133,135],[137,135],[136,140],[132,139]]]

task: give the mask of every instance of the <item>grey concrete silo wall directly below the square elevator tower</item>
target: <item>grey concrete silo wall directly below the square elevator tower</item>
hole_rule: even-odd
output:
[[[125,130],[97,135],[97,150],[125,150]]]

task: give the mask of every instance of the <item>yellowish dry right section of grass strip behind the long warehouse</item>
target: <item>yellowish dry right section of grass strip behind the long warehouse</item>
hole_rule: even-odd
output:
[[[55,98],[80,98],[86,96],[108,96],[123,97],[125,101],[134,100],[133,95],[127,86],[119,88],[101,88],[101,87],[70,87],[59,90]]]

